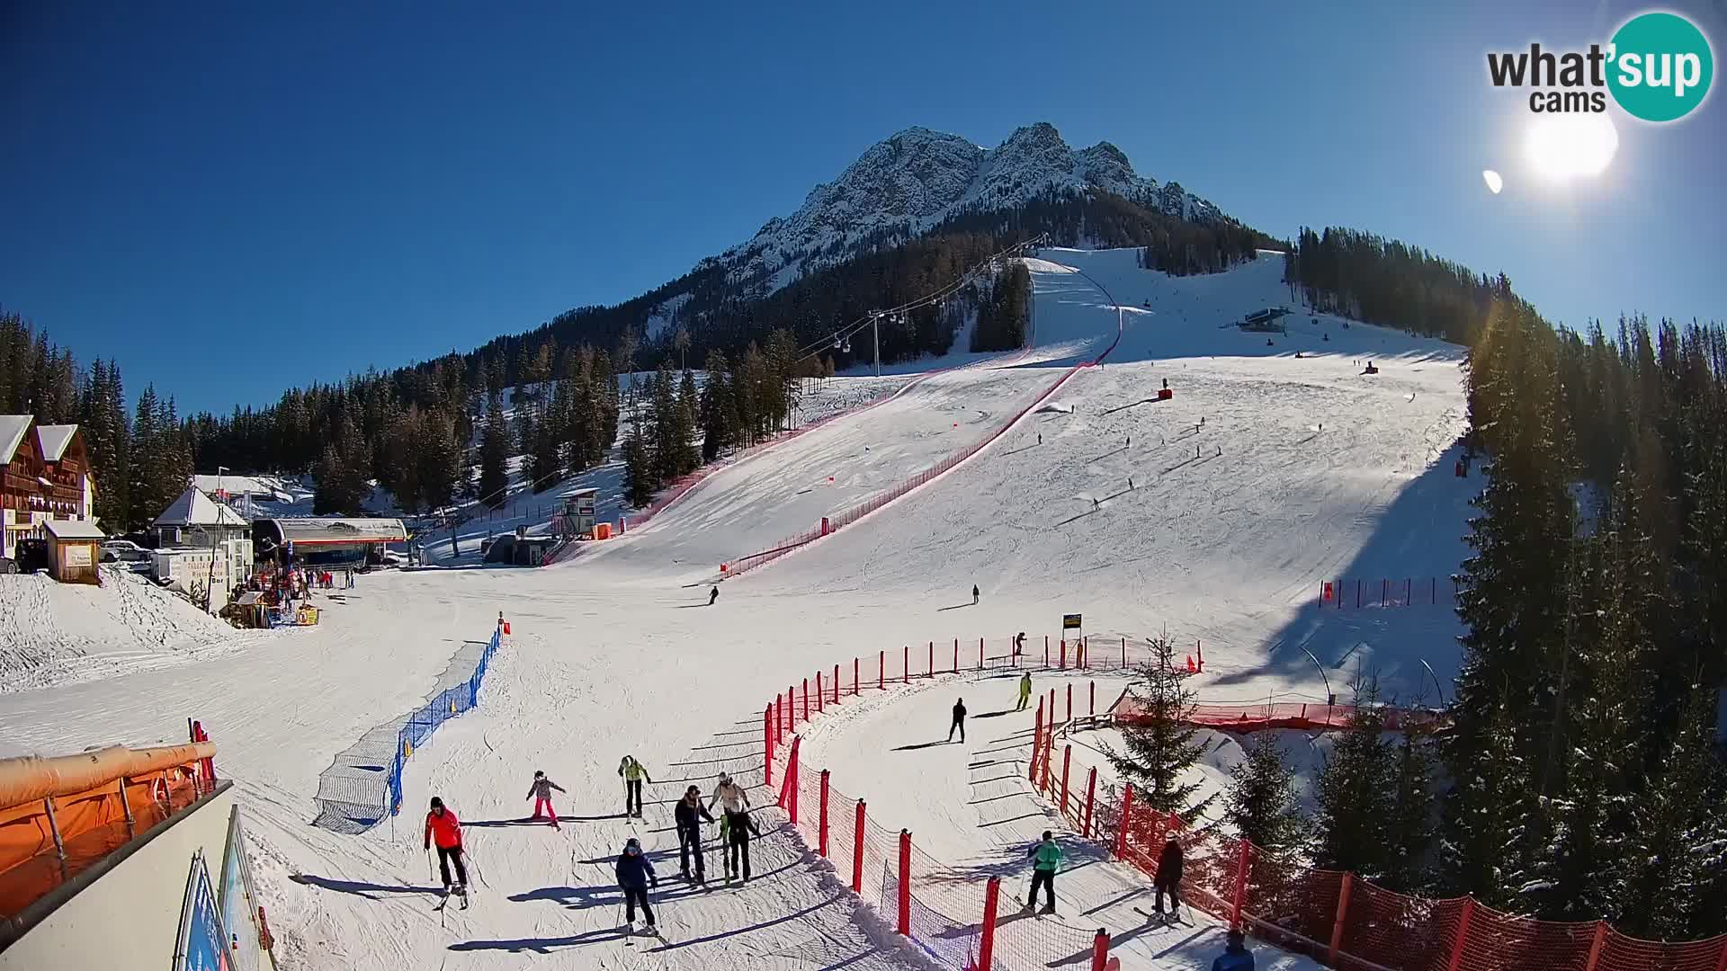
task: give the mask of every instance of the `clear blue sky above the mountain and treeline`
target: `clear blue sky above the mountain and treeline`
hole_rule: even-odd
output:
[[[1401,237],[1566,323],[1727,320],[1727,95],[1622,121],[1556,190],[1485,81],[1637,3],[275,7],[0,3],[0,306],[181,411],[627,299],[914,124],[1107,138],[1273,235]],[[1727,57],[1727,2],[1670,9]]]

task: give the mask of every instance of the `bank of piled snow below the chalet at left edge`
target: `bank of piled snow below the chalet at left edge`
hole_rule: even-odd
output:
[[[102,586],[0,574],[0,693],[147,670],[249,639],[140,574],[102,568]]]

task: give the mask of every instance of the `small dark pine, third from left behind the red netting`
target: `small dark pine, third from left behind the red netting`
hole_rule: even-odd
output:
[[[1378,881],[1390,866],[1395,765],[1383,741],[1385,715],[1370,681],[1356,695],[1356,715],[1337,736],[1319,772],[1314,866]]]

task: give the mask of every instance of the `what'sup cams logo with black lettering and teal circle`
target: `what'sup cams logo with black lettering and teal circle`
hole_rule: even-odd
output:
[[[1710,93],[1715,55],[1703,31],[1667,12],[1625,21],[1606,47],[1487,54],[1496,88],[1534,88],[1528,111],[1539,114],[1603,112],[1608,95],[1632,117],[1679,121]]]

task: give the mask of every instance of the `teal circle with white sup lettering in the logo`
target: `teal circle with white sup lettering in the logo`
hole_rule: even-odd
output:
[[[1608,90],[1632,117],[1675,121],[1703,104],[1715,78],[1710,41],[1679,14],[1637,14],[1613,35]]]

